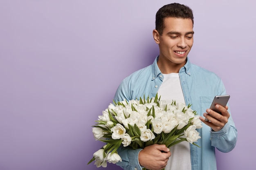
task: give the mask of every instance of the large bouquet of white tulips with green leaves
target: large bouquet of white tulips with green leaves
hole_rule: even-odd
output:
[[[196,145],[194,142],[201,138],[196,129],[202,128],[202,123],[190,106],[167,103],[157,95],[151,99],[114,101],[92,128],[94,138],[106,145],[93,154],[88,164],[95,160],[97,167],[106,167],[107,162],[122,161],[117,153],[121,145],[133,149],[152,144],[170,148],[182,141]]]

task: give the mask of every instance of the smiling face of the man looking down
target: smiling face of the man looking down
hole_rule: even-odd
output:
[[[165,67],[182,67],[186,64],[186,57],[193,46],[192,20],[168,17],[164,19],[164,26],[162,35],[156,30],[155,33],[153,31],[155,42],[159,44],[159,62]]]

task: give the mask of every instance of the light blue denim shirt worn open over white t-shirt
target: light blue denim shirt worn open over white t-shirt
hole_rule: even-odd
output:
[[[144,95],[146,97],[149,95],[150,98],[155,97],[164,79],[164,75],[157,66],[157,60],[158,57],[152,65],[126,77],[119,85],[114,101],[139,99]],[[192,104],[191,108],[201,116],[210,107],[214,96],[226,94],[220,77],[191,64],[189,58],[180,68],[179,75],[186,105]],[[230,109],[228,111],[230,113]],[[200,148],[190,144],[192,170],[217,170],[215,148],[221,152],[229,152],[236,145],[237,130],[234,121],[230,116],[228,123],[218,132],[214,132],[209,126],[203,124],[198,132],[201,136],[197,142]],[[125,170],[141,170],[138,161],[140,150],[121,146],[117,151],[122,161],[117,165]]]

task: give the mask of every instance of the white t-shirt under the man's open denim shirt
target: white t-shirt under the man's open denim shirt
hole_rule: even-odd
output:
[[[185,103],[184,95],[180,84],[179,73],[163,74],[164,80],[158,90],[158,97],[166,102]],[[165,170],[191,170],[191,157],[189,142],[182,141],[170,148],[171,157],[168,160]]]

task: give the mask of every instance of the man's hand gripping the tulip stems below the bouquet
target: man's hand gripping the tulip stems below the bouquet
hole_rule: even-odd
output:
[[[149,170],[162,170],[170,156],[170,149],[165,145],[150,145],[139,152],[139,164]]]

